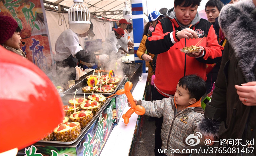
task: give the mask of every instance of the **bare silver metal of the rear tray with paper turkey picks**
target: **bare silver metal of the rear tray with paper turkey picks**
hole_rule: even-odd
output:
[[[124,80],[124,78],[125,78],[125,75],[123,75],[123,77],[120,79],[120,81],[119,81],[117,87],[116,87],[115,90],[114,90],[113,92],[111,92],[111,93],[94,93],[94,92],[93,92],[93,93],[94,93],[94,94],[102,94],[102,95],[104,95],[104,96],[106,96],[106,97],[108,97],[108,96],[110,96],[110,95],[113,95],[113,94],[117,91],[117,89],[119,88],[119,86],[120,86],[121,82]],[[74,94],[75,94],[75,90],[77,89],[76,95],[79,95],[79,96],[83,96],[84,94],[85,94],[85,96],[91,95],[92,93],[83,93],[82,88],[85,87],[85,86],[88,86],[88,85],[87,85],[87,79],[86,79],[86,78],[84,78],[82,81],[78,82],[77,84],[75,84],[74,86],[72,86],[71,88],[69,88],[68,90],[64,91],[63,93],[64,93],[64,94],[69,94],[69,95],[70,95],[70,94],[74,95]]]

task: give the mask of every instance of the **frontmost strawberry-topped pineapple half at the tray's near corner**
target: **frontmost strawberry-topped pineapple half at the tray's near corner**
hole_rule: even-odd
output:
[[[81,132],[79,122],[66,122],[56,127],[53,131],[57,141],[73,141]]]

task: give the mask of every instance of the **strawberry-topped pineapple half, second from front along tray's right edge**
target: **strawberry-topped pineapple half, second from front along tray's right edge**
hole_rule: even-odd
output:
[[[79,122],[81,128],[84,128],[93,118],[93,112],[90,110],[81,110],[71,114],[69,119],[72,122]]]

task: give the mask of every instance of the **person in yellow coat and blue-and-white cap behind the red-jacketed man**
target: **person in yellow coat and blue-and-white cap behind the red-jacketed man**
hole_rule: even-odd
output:
[[[141,60],[145,60],[145,61],[153,61],[153,57],[155,56],[154,54],[146,54],[146,39],[149,37],[151,31],[154,30],[154,27],[157,23],[158,19],[162,19],[163,17],[165,17],[164,15],[162,15],[159,11],[153,11],[149,14],[149,22],[145,25],[144,27],[144,33],[143,33],[143,38],[141,40],[141,44],[139,45],[139,48],[137,50],[137,56],[141,59]],[[149,82],[151,82],[151,77],[153,75],[152,72],[152,67],[151,65],[149,65],[149,75],[148,75],[148,79]],[[154,87],[153,85],[151,85],[151,91],[152,91],[152,87]],[[153,97],[152,97],[153,98]],[[154,100],[154,99],[153,99]]]

